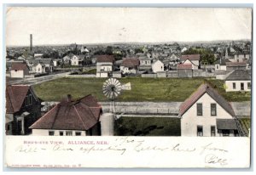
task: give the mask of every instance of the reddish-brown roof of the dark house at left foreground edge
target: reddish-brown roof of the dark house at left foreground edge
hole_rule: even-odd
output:
[[[13,114],[20,110],[29,89],[26,85],[9,85],[6,88],[6,113]]]

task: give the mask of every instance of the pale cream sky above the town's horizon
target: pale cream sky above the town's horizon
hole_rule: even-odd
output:
[[[196,42],[252,37],[251,8],[8,8],[6,45]]]

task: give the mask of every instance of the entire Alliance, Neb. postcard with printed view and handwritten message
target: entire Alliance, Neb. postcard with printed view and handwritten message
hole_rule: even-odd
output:
[[[4,165],[250,167],[252,15],[6,8]]]

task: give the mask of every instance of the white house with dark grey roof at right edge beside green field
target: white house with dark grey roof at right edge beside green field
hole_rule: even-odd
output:
[[[235,70],[225,79],[226,92],[251,91],[251,73],[246,70]]]

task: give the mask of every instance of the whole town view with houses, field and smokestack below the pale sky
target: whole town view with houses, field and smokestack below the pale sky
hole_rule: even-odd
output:
[[[250,135],[248,40],[33,46],[32,37],[6,50],[7,135]]]

